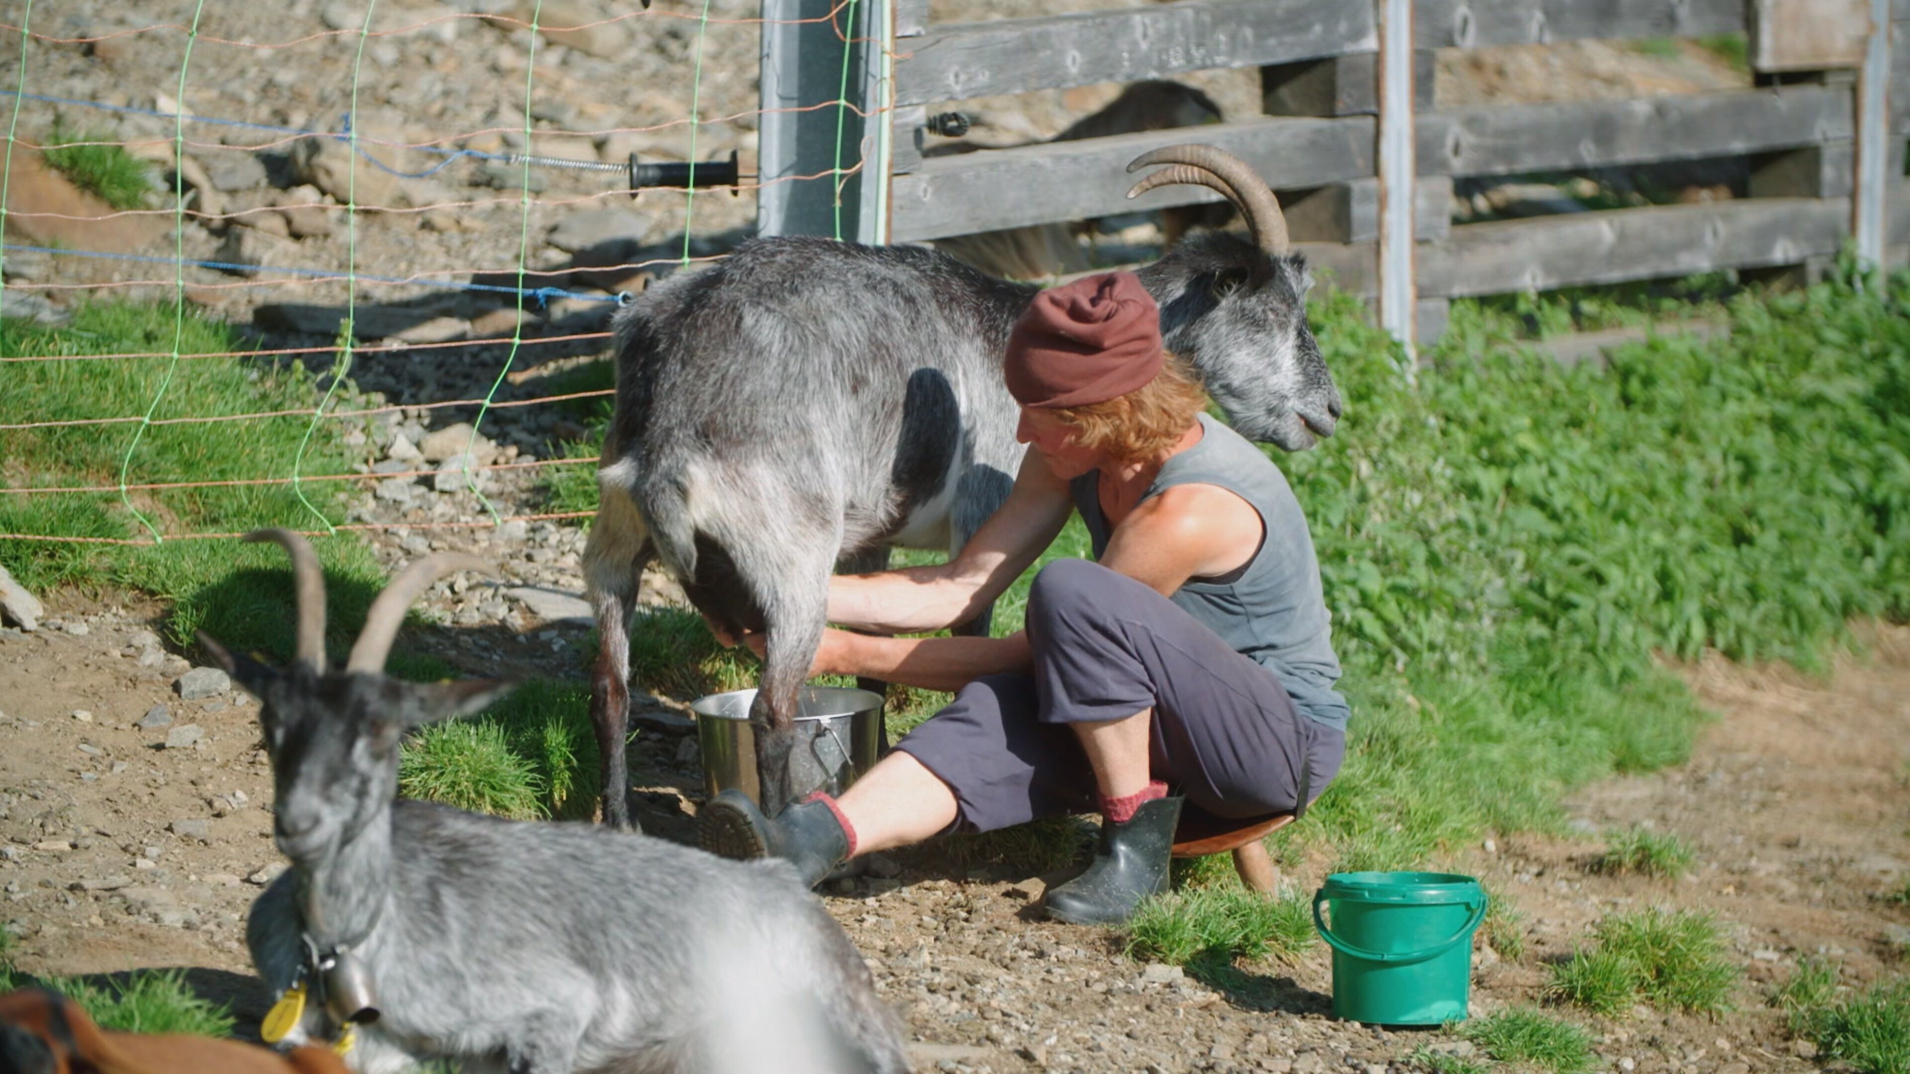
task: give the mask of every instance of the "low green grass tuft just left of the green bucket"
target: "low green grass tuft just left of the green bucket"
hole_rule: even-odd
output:
[[[1245,889],[1198,889],[1152,898],[1127,925],[1127,954],[1142,961],[1261,959],[1318,940],[1303,892],[1276,898]]]

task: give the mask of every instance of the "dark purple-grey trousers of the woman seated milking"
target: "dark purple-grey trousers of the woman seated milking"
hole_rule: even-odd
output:
[[[896,749],[955,791],[951,831],[1096,812],[1094,772],[1068,724],[1154,709],[1150,768],[1194,816],[1293,812],[1339,772],[1347,738],[1303,717],[1274,673],[1146,585],[1056,560],[1028,594],[1033,675],[989,675]],[[1303,778],[1303,770],[1306,772]]]

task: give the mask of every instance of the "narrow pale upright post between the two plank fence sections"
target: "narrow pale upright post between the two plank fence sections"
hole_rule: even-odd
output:
[[[1406,346],[1413,378],[1413,2],[1379,8],[1379,323]]]

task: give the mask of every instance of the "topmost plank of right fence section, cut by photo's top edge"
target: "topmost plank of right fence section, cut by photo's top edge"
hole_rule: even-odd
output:
[[[1744,32],[1744,0],[1419,0],[1419,48]]]

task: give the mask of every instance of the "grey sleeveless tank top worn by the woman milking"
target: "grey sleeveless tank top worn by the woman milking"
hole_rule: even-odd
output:
[[[1199,443],[1171,457],[1142,493],[1146,503],[1175,485],[1219,485],[1253,505],[1264,529],[1261,547],[1245,566],[1224,577],[1188,579],[1171,600],[1220,634],[1234,652],[1266,667],[1293,698],[1301,715],[1345,730],[1347,699],[1333,690],[1339,657],[1333,655],[1331,615],[1320,591],[1306,516],[1293,499],[1287,476],[1247,438],[1199,415]],[[1100,514],[1100,472],[1073,482],[1075,510],[1094,539],[1094,558],[1108,550],[1112,527]]]

